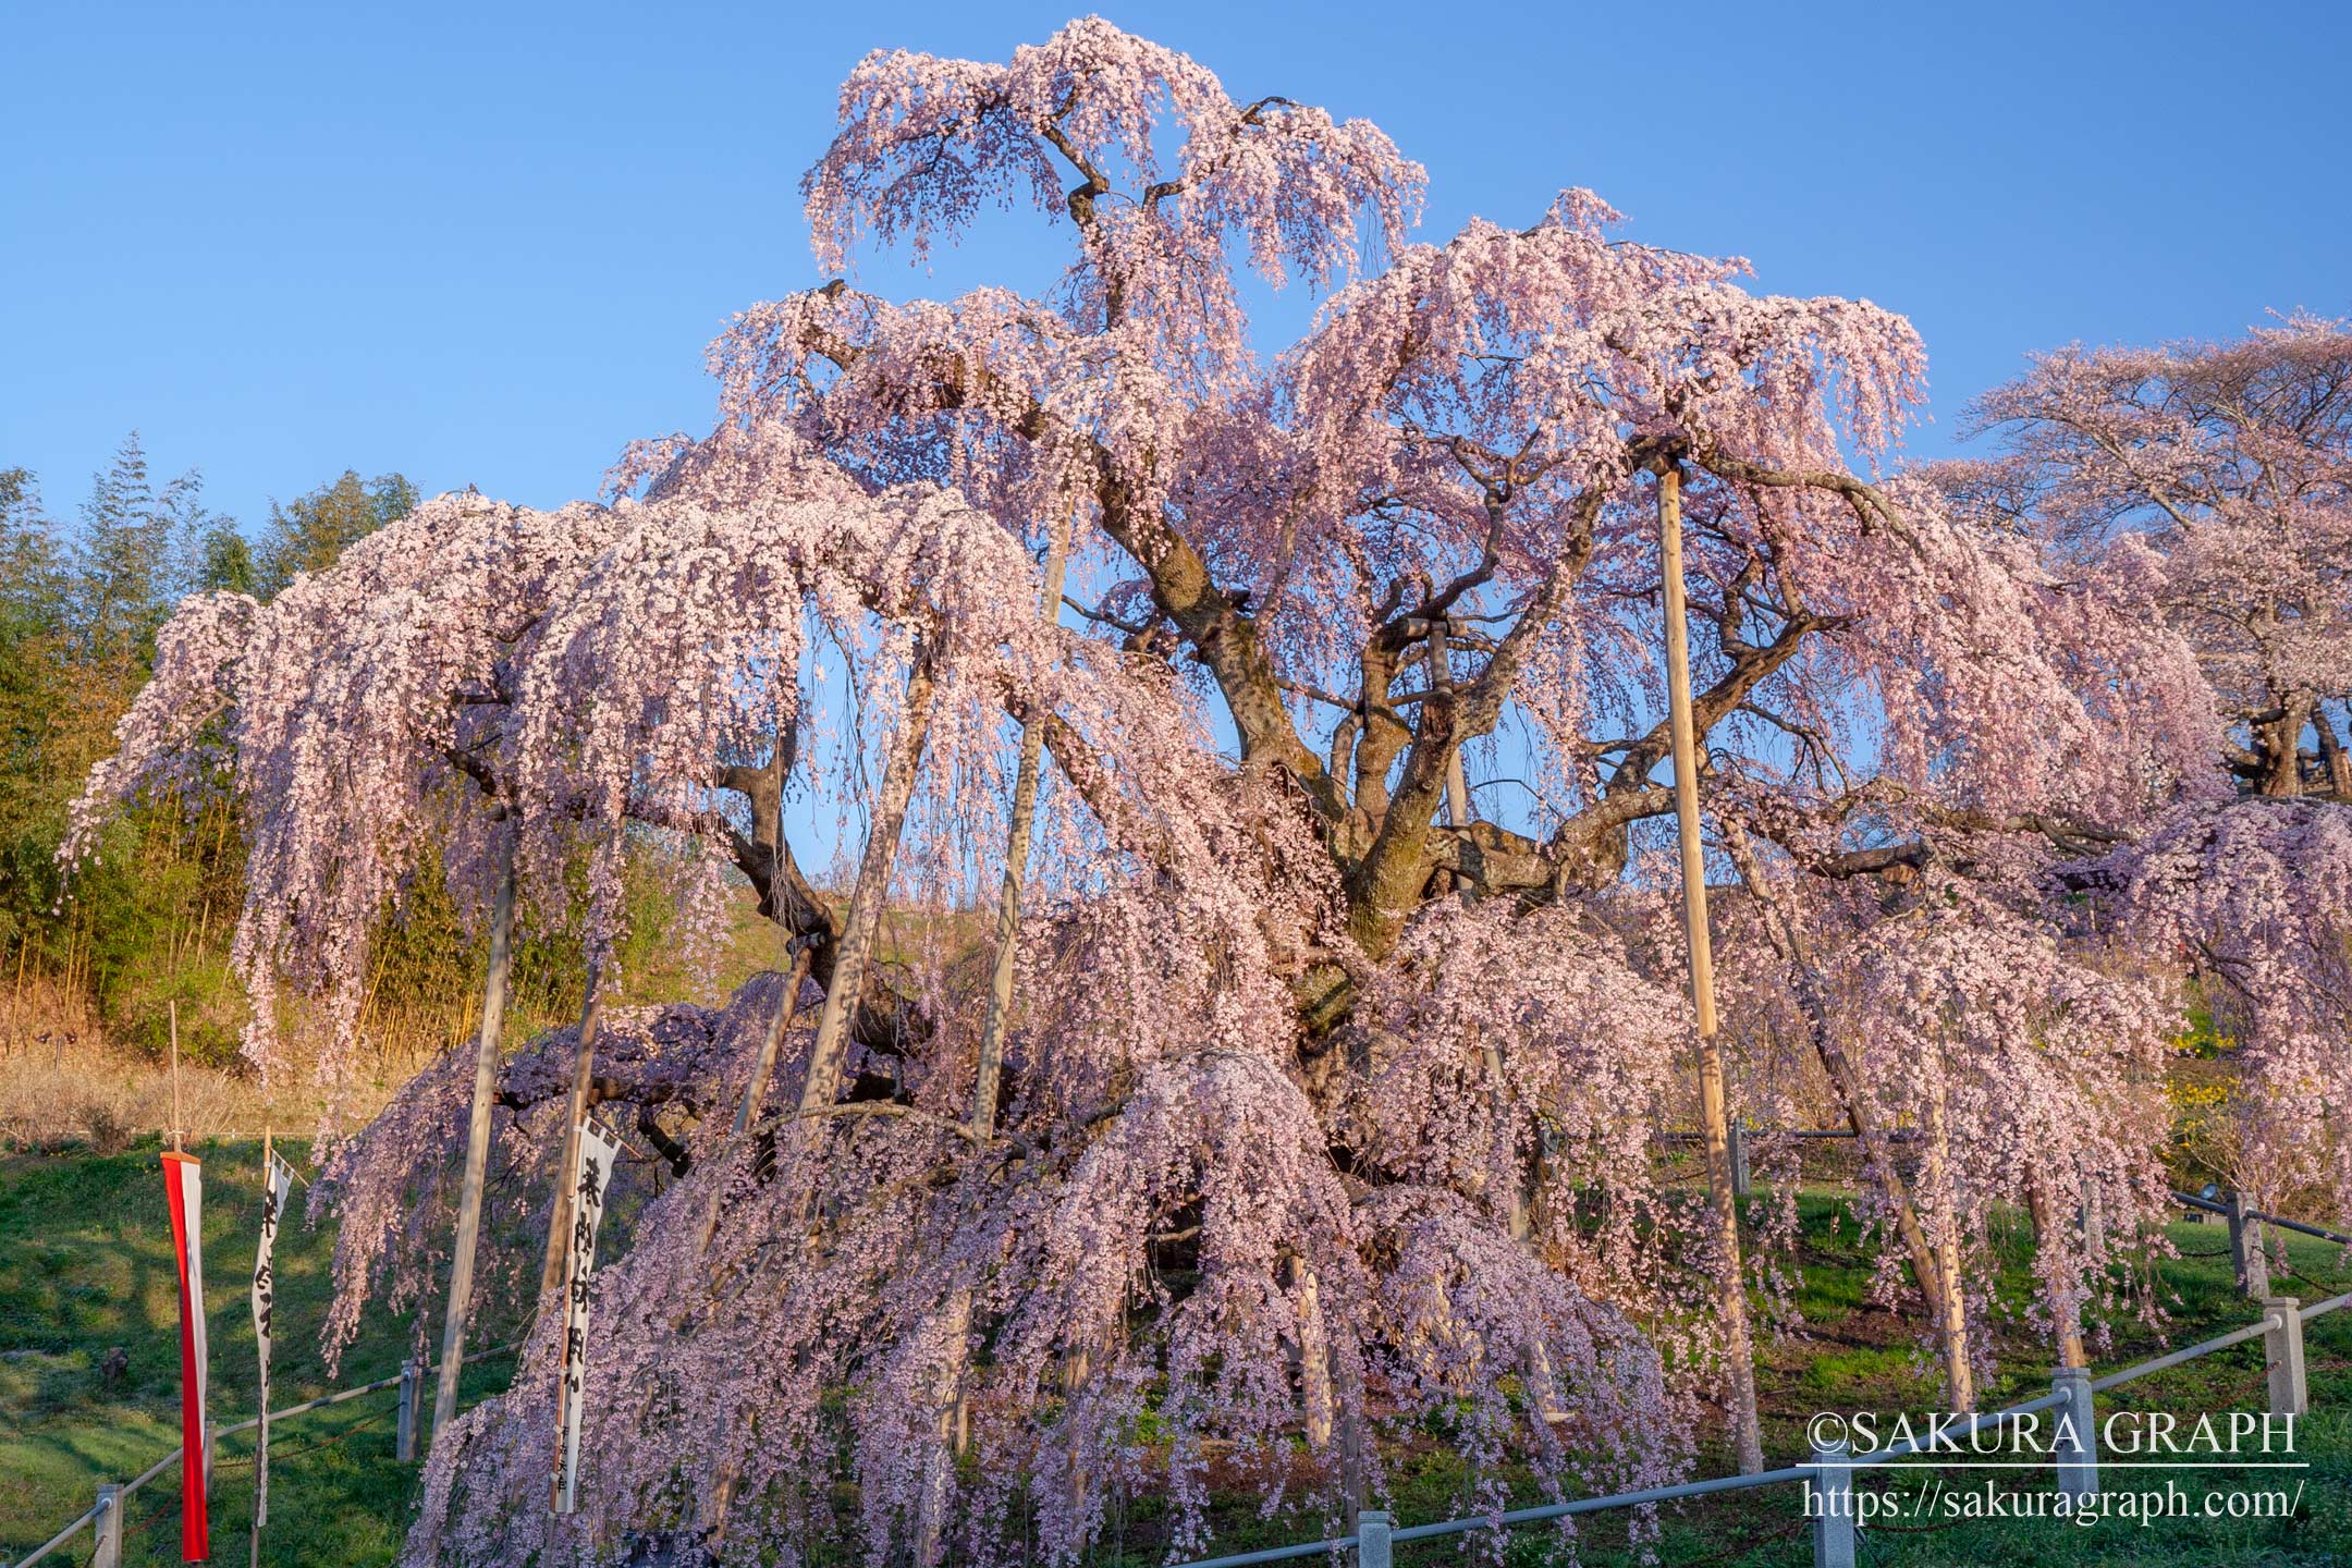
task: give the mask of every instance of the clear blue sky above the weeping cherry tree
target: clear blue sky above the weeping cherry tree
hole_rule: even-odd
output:
[[[1378,120],[1428,237],[1592,186],[1926,336],[1936,451],[2034,348],[2352,313],[2340,5],[1115,5],[1244,96]],[[701,428],[703,343],[816,280],[795,181],[873,47],[1054,5],[24,5],[0,24],[0,465],[125,430],[247,524],[346,465],[524,503]],[[891,292],[1035,277],[990,230]],[[1265,343],[1268,348],[1275,343]]]

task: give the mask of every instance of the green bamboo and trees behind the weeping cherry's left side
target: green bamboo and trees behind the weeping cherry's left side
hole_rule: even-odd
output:
[[[397,515],[409,494],[397,475],[325,484],[278,512],[270,559],[325,564],[336,541]],[[191,1051],[233,1056],[245,1004],[228,973],[242,900],[230,804],[174,788],[108,820],[103,863],[71,889],[56,846],[68,802],[151,675],[155,628],[188,590],[254,585],[254,548],[235,520],[205,510],[198,473],[158,487],[136,435],[71,517],[45,512],[31,473],[0,473],[0,952],[19,1037],[96,1044],[103,1030],[160,1048],[165,1004],[179,1001]],[[388,943],[386,1004],[419,1023],[447,1011],[454,976],[440,969],[463,969],[463,954],[433,957],[400,933]],[[534,1018],[557,1004],[539,971],[532,954]]]

